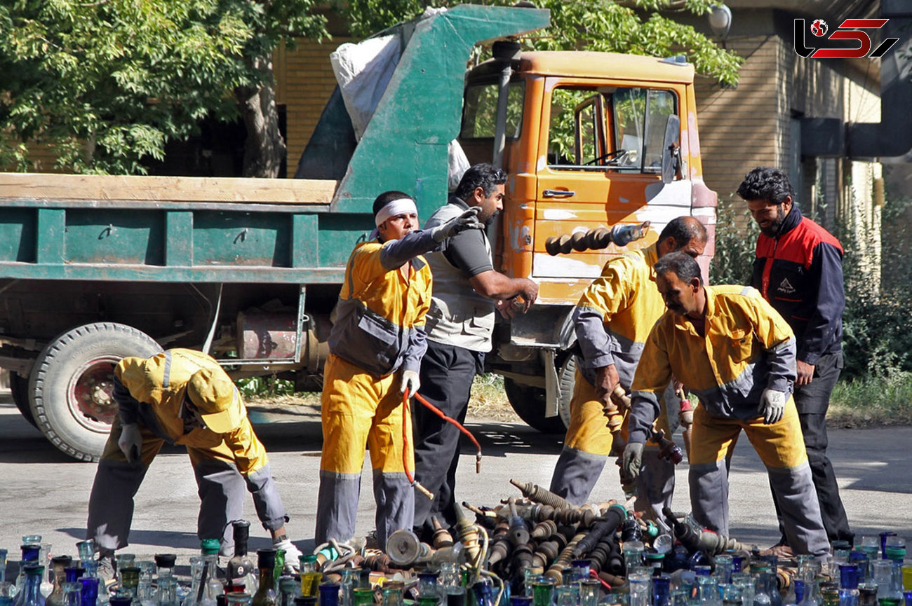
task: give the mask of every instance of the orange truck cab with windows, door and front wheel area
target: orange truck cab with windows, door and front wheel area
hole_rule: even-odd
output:
[[[647,247],[668,221],[693,215],[710,233],[699,260],[705,274],[717,199],[702,180],[694,68],[683,57],[509,47],[498,54],[495,45],[495,58],[467,73],[459,142],[470,163],[500,159],[510,176],[492,233],[495,268],[532,278],[540,290],[529,313],[499,324],[490,365],[523,420],[560,430],[575,371],[566,352],[575,342],[570,315],[625,249],[552,256],[545,241],[650,221],[647,237],[628,245]]]

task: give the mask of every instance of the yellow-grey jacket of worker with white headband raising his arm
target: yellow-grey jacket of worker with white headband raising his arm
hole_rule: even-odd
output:
[[[334,311],[329,351],[375,376],[401,366],[419,371],[427,350],[430,267],[415,250],[435,245],[428,231],[362,242],[351,253]]]

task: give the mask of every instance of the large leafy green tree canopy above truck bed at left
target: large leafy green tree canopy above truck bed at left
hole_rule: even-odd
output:
[[[311,0],[14,0],[0,5],[0,164],[142,173],[233,93],[272,86],[285,36],[325,35]]]

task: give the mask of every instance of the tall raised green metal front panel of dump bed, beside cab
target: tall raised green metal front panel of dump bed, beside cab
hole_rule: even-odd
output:
[[[339,184],[334,210],[365,212],[378,193],[402,190],[419,212],[447,200],[447,145],[459,133],[472,46],[548,25],[532,8],[459,5],[419,21]]]

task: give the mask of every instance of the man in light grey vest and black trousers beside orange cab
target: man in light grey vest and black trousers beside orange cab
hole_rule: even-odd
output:
[[[442,225],[470,208],[478,220],[490,222],[503,210],[507,174],[491,164],[465,171],[449,203],[430,215],[425,229]],[[472,379],[484,372],[484,354],[491,351],[494,308],[513,313],[514,297],[523,298],[521,311],[535,303],[538,284],[496,272],[491,244],[482,230],[464,231],[427,255],[434,274],[428,312],[428,351],[421,359],[421,395],[444,414],[462,423],[469,407]],[[434,494],[434,500],[415,501],[415,532],[430,542],[436,516],[456,524],[456,467],[460,432],[425,406],[416,406],[415,478]]]

